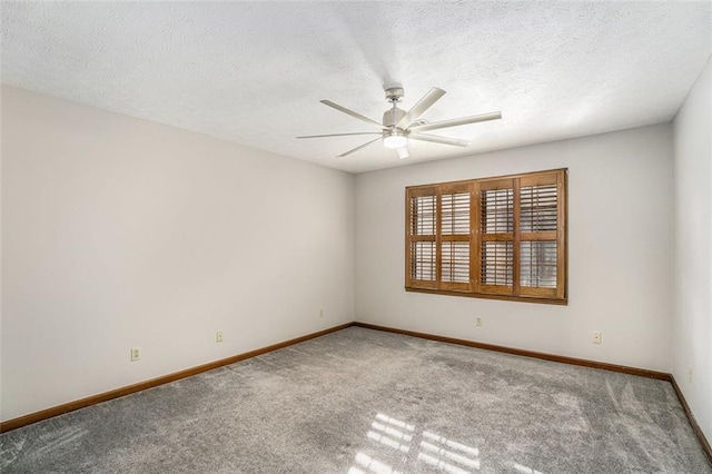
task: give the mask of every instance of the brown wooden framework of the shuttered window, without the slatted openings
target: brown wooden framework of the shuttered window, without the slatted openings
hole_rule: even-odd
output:
[[[527,189],[536,188],[544,189],[544,191],[550,192],[548,198],[554,194],[555,205],[551,204],[551,200],[544,203],[538,209],[544,209],[542,215],[543,217],[537,217],[541,220],[527,220],[527,215],[522,214],[522,189],[525,188],[525,204],[528,204],[528,209],[533,213],[534,209],[533,203],[533,190],[527,195]],[[501,231],[500,227],[495,227],[496,231],[485,233],[483,229],[487,227],[483,227],[483,209],[491,208],[490,206],[485,206],[483,204],[483,196],[485,192],[493,190],[502,190],[502,189],[512,189],[513,201],[510,204],[508,195],[505,198],[505,210],[501,211],[500,209],[495,209],[494,213],[488,214],[487,216],[494,216],[495,221],[500,223],[501,216],[496,216],[496,213],[500,213],[504,216],[506,220],[506,231]],[[543,191],[543,192],[544,192]],[[462,233],[458,234],[443,234],[442,223],[443,223],[443,196],[449,196],[454,192],[468,192],[469,194],[469,235]],[[412,206],[415,205],[414,199],[418,199],[422,197],[433,197],[435,203],[435,223],[434,223],[434,235],[416,235],[415,225],[417,216],[412,215]],[[538,196],[538,195],[537,195]],[[521,175],[508,175],[508,176],[500,176],[493,178],[481,178],[481,179],[469,179],[469,180],[461,180],[461,181],[449,181],[449,182],[439,182],[439,184],[431,184],[423,186],[409,186],[406,187],[405,191],[405,289],[407,292],[419,292],[419,293],[432,293],[438,295],[454,295],[454,296],[467,296],[475,298],[490,298],[490,299],[506,299],[506,300],[516,300],[516,302],[530,302],[530,303],[545,303],[545,304],[557,304],[557,305],[566,305],[567,304],[567,169],[553,169],[545,171],[536,171],[536,172],[527,172]],[[511,206],[511,210],[510,207]],[[553,213],[553,208],[555,206],[555,214]],[[534,209],[536,210],[536,209]],[[511,216],[511,217],[510,217]],[[555,220],[554,220],[555,216]],[[512,223],[508,223],[508,219],[512,219]],[[550,219],[550,220],[547,220]],[[522,223],[524,220],[524,224]],[[490,220],[487,220],[490,223]],[[527,223],[534,223],[538,227],[538,229],[532,228],[533,224],[527,225]],[[486,224],[485,224],[486,225]],[[523,226],[526,228],[523,229]],[[550,226],[550,227],[546,227]],[[554,230],[555,226],[555,230]],[[432,241],[435,246],[435,270],[432,279],[427,280],[418,280],[415,277],[417,275],[423,275],[422,273],[416,273],[417,261],[414,261],[415,256],[413,255],[413,249],[415,248],[415,243],[417,241]],[[447,241],[467,241],[469,244],[469,282],[444,282],[443,280],[443,243]],[[504,267],[507,271],[507,279],[505,284],[486,284],[483,282],[486,276],[483,276],[483,244],[488,241],[507,241],[512,243],[511,254],[513,255],[512,263],[510,264],[506,259],[508,256],[508,249],[505,253],[505,264]],[[524,243],[524,250],[522,249],[522,245]],[[530,247],[526,247],[526,243],[530,243]],[[550,258],[548,256],[538,257],[543,258],[537,260],[538,264],[533,264],[532,253],[528,255],[528,266],[526,261],[523,264],[522,253],[526,251],[527,248],[531,249],[531,246],[534,243],[550,243],[550,245],[540,244],[540,248],[545,248],[548,253],[552,254],[555,250],[555,265],[554,258]],[[555,248],[552,247],[555,243]],[[446,246],[448,247],[448,246]],[[510,247],[510,246],[508,246]],[[544,253],[544,250],[542,250]],[[490,254],[492,255],[492,254]],[[542,255],[542,254],[540,254]],[[544,255],[546,255],[544,253]],[[546,264],[546,261],[550,261]],[[431,259],[432,261],[432,259]],[[451,261],[451,260],[448,260]],[[487,260],[490,261],[490,260]],[[490,264],[492,265],[492,264]],[[497,264],[494,264],[497,265]],[[536,277],[534,277],[534,282],[542,286],[533,286],[527,285],[532,279],[530,277],[530,273],[525,273],[522,276],[522,266],[532,269],[532,266],[537,266],[536,268]],[[502,268],[501,266],[495,266],[494,268]],[[550,277],[541,277],[538,276],[540,268],[544,270],[548,270]],[[487,269],[492,270],[492,267],[488,266]],[[555,270],[555,275],[554,275]],[[510,271],[511,271],[511,282],[510,282]],[[492,275],[490,273],[490,275]],[[523,278],[526,278],[523,280]],[[545,279],[547,278],[547,279]],[[552,285],[552,282],[555,280],[555,286]],[[492,280],[490,280],[492,282]],[[496,282],[496,280],[495,280]],[[545,283],[543,283],[545,282]]]

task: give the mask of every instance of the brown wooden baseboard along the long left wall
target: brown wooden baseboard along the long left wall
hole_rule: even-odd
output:
[[[129,395],[136,392],[145,391],[147,388],[152,388],[158,385],[168,384],[170,382],[179,381],[181,378],[190,377],[192,375],[200,374],[202,372],[212,371],[214,368],[221,367],[228,364],[235,364],[236,362],[244,361],[246,358],[256,357],[258,355],[263,355],[273,350],[281,349],[287,346],[291,346],[294,344],[303,343],[305,340],[313,339],[315,337],[324,336],[329,333],[334,333],[336,330],[345,329],[352,326],[353,323],[342,324],[339,326],[334,326],[328,329],[319,330],[317,333],[307,334],[306,336],[296,337],[294,339],[285,340],[283,343],[273,344],[271,346],[261,347],[259,349],[250,350],[244,354],[238,354],[231,357],[227,357],[220,361],[210,362],[208,364],[199,365],[197,367],[187,368],[185,371],[175,372],[172,374],[164,375],[161,377],[151,378],[150,381],[139,382],[138,384],[129,385],[121,388],[116,388],[113,391],[105,392],[98,395],[92,395],[86,398],[81,398],[75,402],[65,403],[62,405],[53,406],[47,409],[42,409],[40,412],[30,413],[29,415],[20,416],[13,419],[9,419],[7,422],[0,423],[0,433],[9,432],[11,429],[19,428],[21,426],[26,426],[32,423],[40,422],[42,419],[51,418],[52,416],[62,415],[65,413],[73,412],[79,408],[85,408],[87,406],[96,405],[97,403],[107,402],[113,398],[118,398],[125,395]]]

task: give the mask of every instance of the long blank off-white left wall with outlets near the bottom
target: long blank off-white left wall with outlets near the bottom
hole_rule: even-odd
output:
[[[2,167],[3,421],[353,320],[350,175],[9,87]]]

